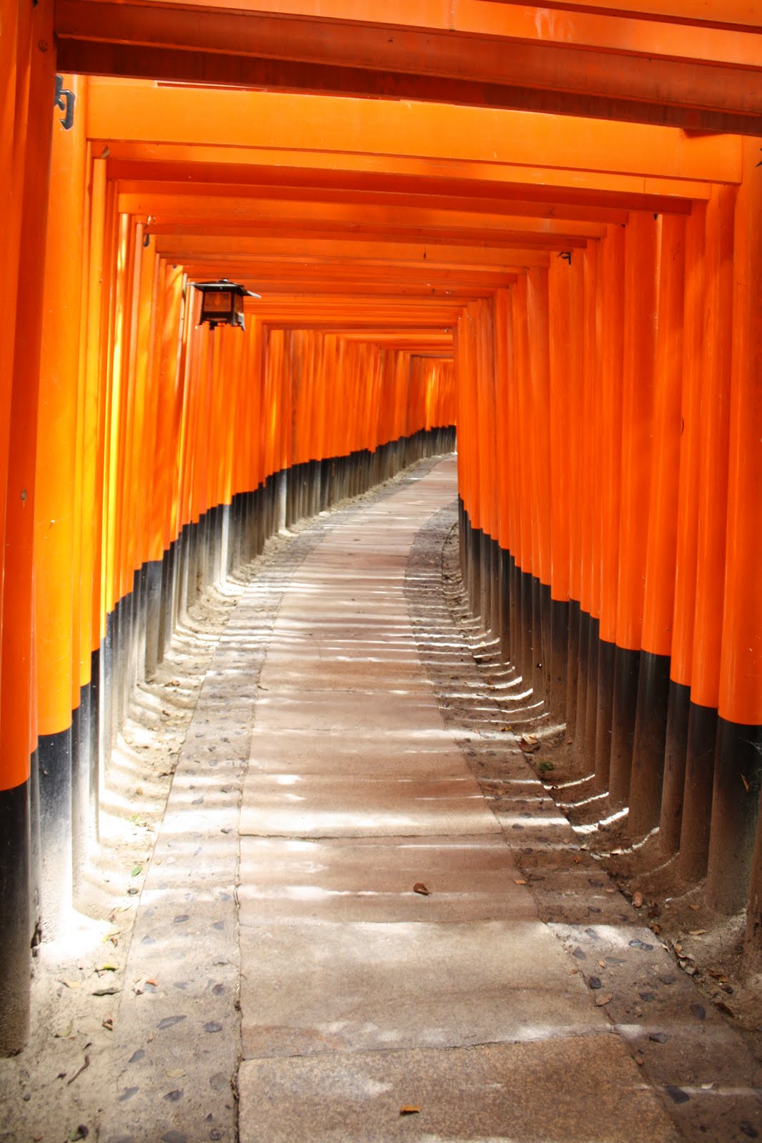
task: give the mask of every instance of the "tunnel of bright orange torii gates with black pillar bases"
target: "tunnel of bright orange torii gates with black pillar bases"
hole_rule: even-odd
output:
[[[761,959],[762,9],[379,7],[2,0],[5,1052],[174,624],[455,426],[474,614]]]

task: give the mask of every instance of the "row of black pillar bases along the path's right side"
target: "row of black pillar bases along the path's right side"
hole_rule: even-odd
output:
[[[709,908],[748,906],[749,956],[762,967],[762,727],[691,702],[669,658],[617,647],[578,602],[555,600],[459,505],[460,565],[472,613],[504,661],[572,741],[579,789],[621,814],[644,860],[674,862],[676,884],[706,879]]]

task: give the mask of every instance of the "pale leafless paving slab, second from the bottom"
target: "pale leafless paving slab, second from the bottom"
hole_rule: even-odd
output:
[[[605,1026],[540,921],[281,921],[241,927],[240,941],[244,1058],[534,1040]]]

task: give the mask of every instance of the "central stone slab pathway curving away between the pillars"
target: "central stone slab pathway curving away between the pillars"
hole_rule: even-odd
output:
[[[675,1143],[419,656],[406,569],[454,491],[447,459],[332,518],[283,592],[240,818],[240,1140]]]

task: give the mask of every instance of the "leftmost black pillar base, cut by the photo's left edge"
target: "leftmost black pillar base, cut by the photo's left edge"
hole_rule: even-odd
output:
[[[0,791],[0,1055],[21,1052],[30,1018],[30,788]]]

